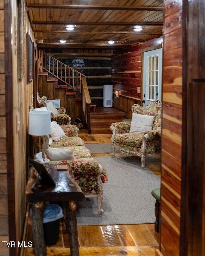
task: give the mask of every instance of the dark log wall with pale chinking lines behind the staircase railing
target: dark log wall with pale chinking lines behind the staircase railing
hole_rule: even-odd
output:
[[[103,85],[111,84],[111,57],[117,51],[66,48],[41,50],[85,75],[92,104],[102,106]]]

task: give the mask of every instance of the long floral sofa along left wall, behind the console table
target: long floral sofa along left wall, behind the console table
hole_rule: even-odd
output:
[[[52,125],[58,127],[58,124],[53,121]],[[70,175],[75,178],[86,197],[97,197],[98,212],[102,215],[103,189],[102,183],[108,181],[107,173],[94,158],[91,158],[90,151],[85,147],[84,141],[78,137],[79,129],[75,125],[60,126],[60,132],[53,135],[53,139],[49,138],[49,148],[56,149],[56,153],[60,150],[72,150],[73,158],[62,159],[55,157],[51,158],[51,165],[67,165]],[[63,130],[63,133],[62,133]],[[32,136],[35,152],[39,152],[39,137]],[[41,147],[43,146],[43,137],[40,137]],[[58,150],[57,150],[58,149]],[[55,150],[54,150],[55,151]],[[47,153],[47,150],[46,150]],[[61,157],[62,158],[62,157]],[[55,160],[53,160],[55,159]],[[71,160],[70,160],[71,159]]]

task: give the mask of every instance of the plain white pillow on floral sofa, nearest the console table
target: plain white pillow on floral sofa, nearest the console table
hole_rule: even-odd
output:
[[[75,160],[74,152],[71,149],[51,148],[45,151],[49,160]]]

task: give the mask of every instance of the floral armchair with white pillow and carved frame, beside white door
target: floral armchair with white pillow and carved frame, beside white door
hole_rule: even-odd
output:
[[[112,123],[111,148],[112,156],[115,148],[126,155],[134,154],[141,158],[144,167],[145,155],[160,151],[161,102],[156,100],[143,108],[138,104],[132,106],[130,122]]]

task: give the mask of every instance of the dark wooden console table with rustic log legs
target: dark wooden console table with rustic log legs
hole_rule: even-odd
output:
[[[49,174],[56,186],[34,186],[37,181],[35,169],[31,169],[26,186],[26,200],[32,203],[32,232],[35,255],[46,256],[46,245],[43,233],[43,209],[45,201],[62,202],[63,215],[68,234],[70,235],[71,256],[79,256],[78,230],[75,215],[75,201],[84,201],[85,195],[68,171],[58,171],[56,166],[49,168]]]

